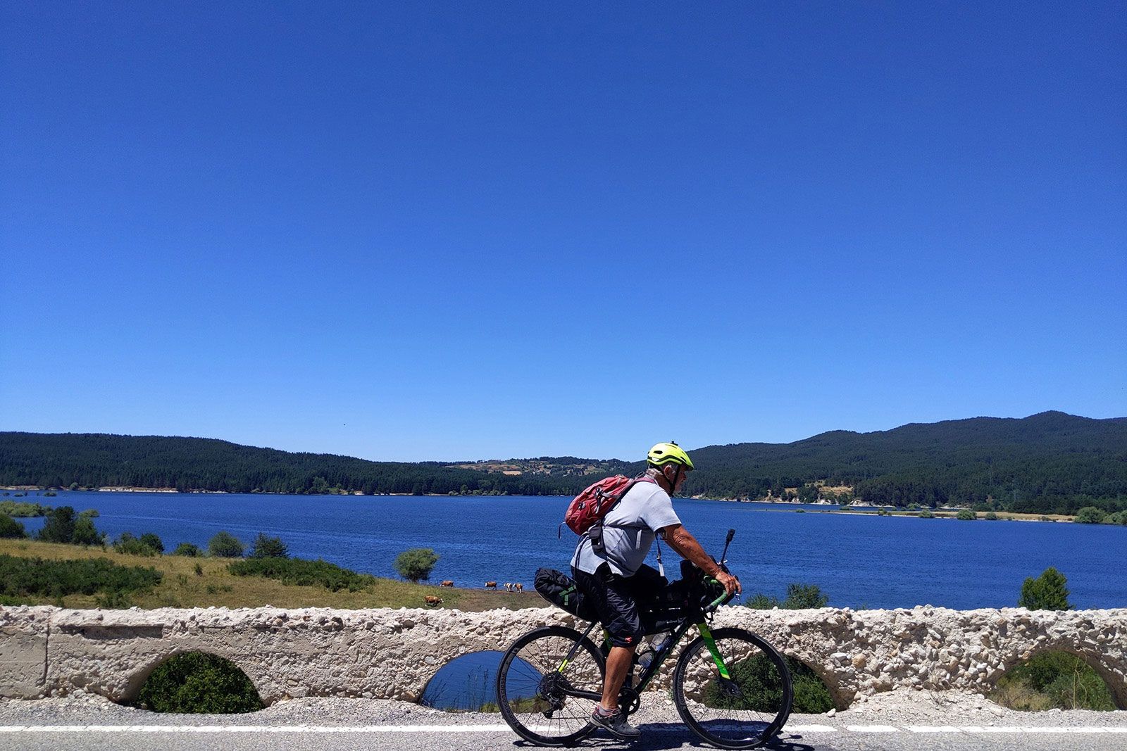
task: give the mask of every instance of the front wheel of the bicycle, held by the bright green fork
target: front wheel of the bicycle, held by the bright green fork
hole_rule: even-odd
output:
[[[760,636],[743,628],[712,633],[728,670],[720,674],[703,636],[694,638],[673,671],[677,714],[694,733],[721,749],[762,745],[782,730],[793,690],[787,663]]]

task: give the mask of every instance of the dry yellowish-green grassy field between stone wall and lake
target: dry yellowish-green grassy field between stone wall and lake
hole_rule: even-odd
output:
[[[179,555],[125,555],[107,547],[81,547],[28,539],[0,539],[0,554],[45,560],[108,558],[125,566],[152,566],[165,574],[163,581],[151,592],[131,594],[128,605],[141,608],[216,607],[255,608],[272,605],[279,608],[423,608],[424,598],[435,594],[443,599],[438,608],[459,610],[490,610],[494,608],[536,608],[547,605],[535,592],[509,593],[459,589],[427,584],[411,584],[393,579],[378,579],[376,583],[357,592],[331,592],[323,587],[295,587],[274,579],[236,576],[227,566],[231,558],[190,558]],[[196,565],[199,573],[196,573]],[[29,597],[28,605],[56,605],[68,608],[96,607],[97,594],[69,594],[63,598]]]

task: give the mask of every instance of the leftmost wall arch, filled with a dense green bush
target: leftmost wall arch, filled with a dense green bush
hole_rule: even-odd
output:
[[[176,654],[157,665],[131,704],[185,714],[238,714],[264,706],[247,673],[206,652]]]

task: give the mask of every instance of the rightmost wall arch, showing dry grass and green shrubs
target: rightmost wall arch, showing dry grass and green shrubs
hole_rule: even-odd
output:
[[[1017,663],[987,698],[1022,712],[1116,708],[1111,688],[1097,669],[1068,652],[1041,652]]]

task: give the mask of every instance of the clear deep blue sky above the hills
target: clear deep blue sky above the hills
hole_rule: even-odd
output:
[[[0,14],[0,429],[639,458],[1127,414],[1125,2]]]

